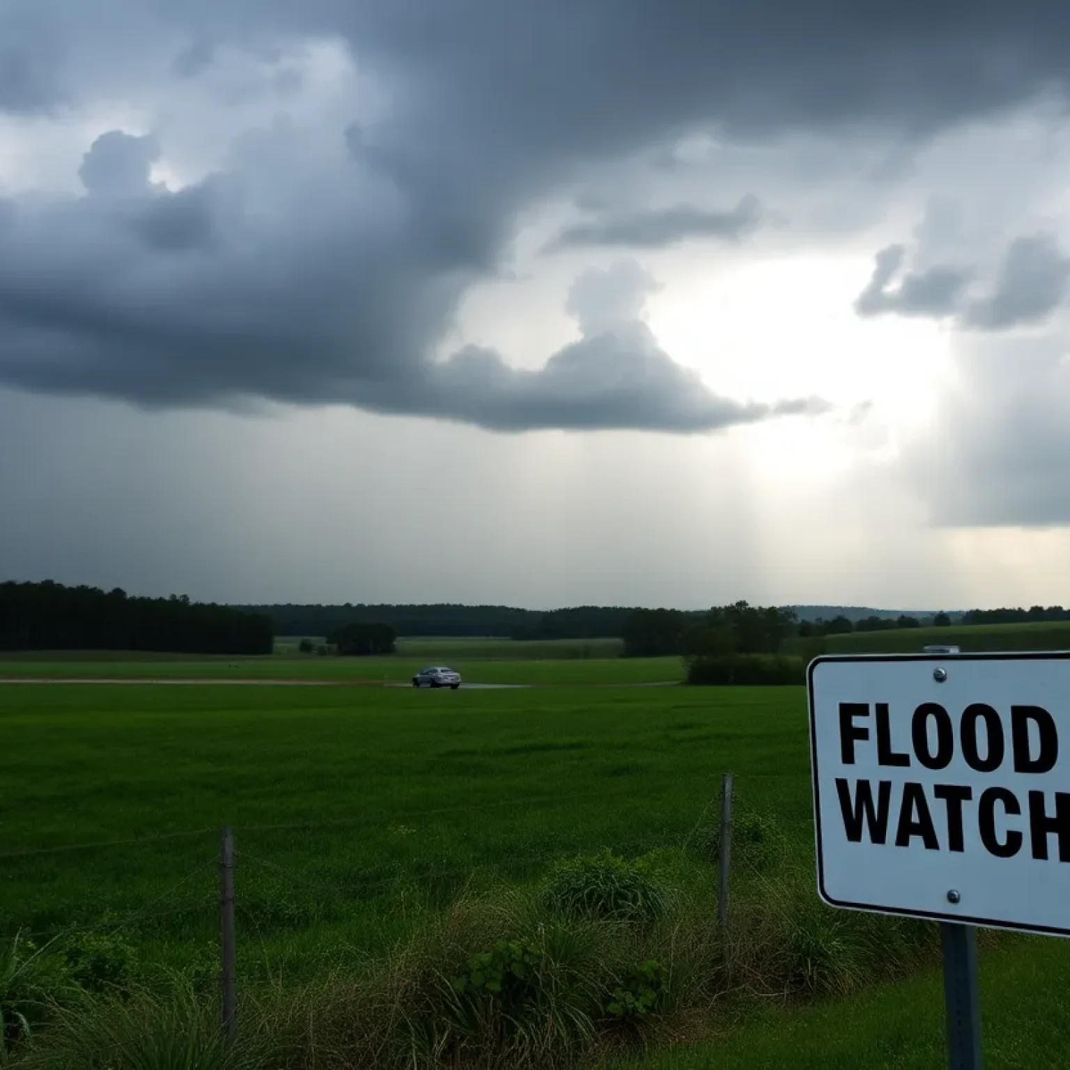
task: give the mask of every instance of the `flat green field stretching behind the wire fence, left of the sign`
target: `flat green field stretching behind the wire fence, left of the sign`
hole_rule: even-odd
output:
[[[472,868],[671,844],[729,767],[801,830],[804,708],[793,689],[6,685],[0,918],[39,929],[133,912],[196,859],[204,880],[187,890],[210,899],[224,824],[241,851],[357,903],[367,884],[449,871],[458,885]],[[275,825],[294,827],[260,828]]]

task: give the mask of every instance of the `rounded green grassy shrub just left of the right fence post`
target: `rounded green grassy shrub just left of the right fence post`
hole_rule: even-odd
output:
[[[544,888],[551,910],[574,917],[654,921],[666,908],[664,890],[644,859],[629,860],[606,849],[559,862]]]

